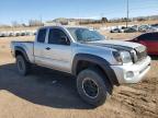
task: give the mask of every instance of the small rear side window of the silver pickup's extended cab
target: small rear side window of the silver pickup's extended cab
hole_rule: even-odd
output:
[[[38,36],[37,36],[37,42],[38,43],[44,43],[45,42],[45,37],[46,37],[46,28],[40,30],[38,31]]]

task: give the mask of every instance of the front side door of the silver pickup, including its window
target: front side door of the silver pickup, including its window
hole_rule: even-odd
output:
[[[64,72],[71,71],[71,44],[63,30],[49,28],[44,57],[47,67]]]

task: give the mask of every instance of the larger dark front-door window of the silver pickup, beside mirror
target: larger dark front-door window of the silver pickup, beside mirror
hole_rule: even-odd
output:
[[[61,30],[50,28],[48,35],[48,44],[68,45],[69,39]]]

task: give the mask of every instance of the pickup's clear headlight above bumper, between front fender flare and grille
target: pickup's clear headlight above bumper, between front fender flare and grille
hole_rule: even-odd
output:
[[[113,51],[113,56],[119,64],[132,62],[132,57],[128,51]]]

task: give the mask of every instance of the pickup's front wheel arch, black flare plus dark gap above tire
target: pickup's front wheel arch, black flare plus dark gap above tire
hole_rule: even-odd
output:
[[[74,58],[71,72],[74,75],[78,75],[81,70],[91,68],[91,66],[93,66],[94,68],[99,68],[103,72],[103,74],[106,75],[106,78],[112,84],[119,85],[117,78],[113,69],[110,67],[110,63],[105,59],[94,55],[76,55]]]

